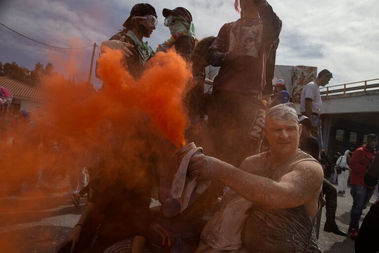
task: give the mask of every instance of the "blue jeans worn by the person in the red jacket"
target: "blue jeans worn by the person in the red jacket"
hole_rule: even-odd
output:
[[[373,196],[374,189],[370,189],[361,185],[351,185],[351,196],[353,197],[353,206],[350,211],[350,228],[359,228],[359,220],[361,219],[363,208],[369,203]]]

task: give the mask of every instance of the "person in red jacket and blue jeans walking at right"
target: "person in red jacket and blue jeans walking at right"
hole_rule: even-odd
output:
[[[355,240],[359,232],[359,220],[363,208],[367,205],[374,193],[375,187],[368,187],[365,184],[364,176],[366,170],[370,167],[374,156],[375,148],[378,145],[378,136],[369,134],[367,144],[356,149],[351,157],[349,167],[351,169],[351,196],[353,197],[353,206],[350,212],[349,232],[350,238]]]

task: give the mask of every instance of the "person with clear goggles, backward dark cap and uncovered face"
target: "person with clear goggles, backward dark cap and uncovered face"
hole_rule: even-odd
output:
[[[133,6],[130,16],[123,24],[123,29],[101,43],[101,53],[105,47],[121,50],[124,54],[124,65],[137,80],[144,72],[146,62],[154,55],[152,47],[143,38],[150,38],[156,29],[158,20],[155,9],[148,3]]]

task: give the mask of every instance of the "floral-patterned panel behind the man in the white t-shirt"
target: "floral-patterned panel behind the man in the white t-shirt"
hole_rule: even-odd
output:
[[[317,67],[295,66],[292,71],[292,90],[291,98],[295,104],[300,104],[300,96],[303,87],[314,81],[317,77]]]

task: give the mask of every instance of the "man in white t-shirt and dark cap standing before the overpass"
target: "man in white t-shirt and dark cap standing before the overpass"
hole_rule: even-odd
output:
[[[317,136],[320,151],[323,148],[320,119],[322,111],[320,86],[323,87],[328,84],[331,78],[333,78],[333,75],[329,70],[324,69],[320,71],[314,82],[310,82],[304,86],[300,97],[300,112],[312,120],[313,129],[311,129],[311,133],[313,136]]]

